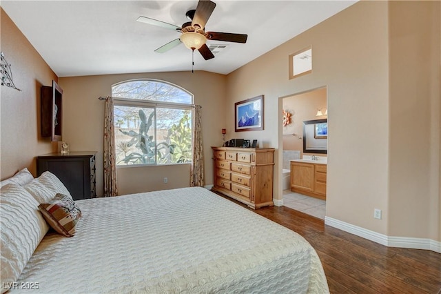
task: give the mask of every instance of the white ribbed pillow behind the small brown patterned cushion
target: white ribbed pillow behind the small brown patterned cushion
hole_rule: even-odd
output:
[[[59,178],[49,171],[45,171],[24,187],[39,204],[50,202],[57,193],[72,198],[68,189],[61,183]]]

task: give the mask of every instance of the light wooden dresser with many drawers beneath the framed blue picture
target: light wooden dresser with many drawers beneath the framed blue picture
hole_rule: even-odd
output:
[[[212,190],[251,208],[274,205],[274,148],[212,147]]]

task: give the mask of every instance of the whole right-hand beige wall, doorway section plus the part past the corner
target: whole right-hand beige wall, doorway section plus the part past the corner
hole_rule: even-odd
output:
[[[309,45],[313,72],[289,80]],[[327,86],[327,217],[440,241],[439,55],[439,1],[361,1],[230,74],[228,103],[265,95],[265,130],[243,135],[279,149],[280,97]]]

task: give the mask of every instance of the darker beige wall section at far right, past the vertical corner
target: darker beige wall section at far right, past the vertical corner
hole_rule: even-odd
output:
[[[440,1],[389,3],[389,235],[440,240]]]

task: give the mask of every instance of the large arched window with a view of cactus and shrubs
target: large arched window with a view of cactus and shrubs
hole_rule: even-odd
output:
[[[116,164],[192,161],[193,95],[152,79],[112,86]]]

